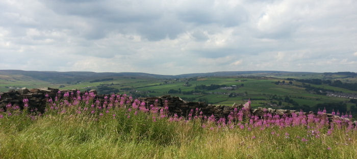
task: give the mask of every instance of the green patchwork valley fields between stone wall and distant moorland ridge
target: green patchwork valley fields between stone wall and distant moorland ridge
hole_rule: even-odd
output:
[[[36,80],[35,78],[24,78],[17,76],[0,76],[0,91],[7,91],[9,87],[53,87],[63,90],[80,89],[82,91],[95,89],[99,94],[130,94],[134,97],[179,96],[186,101],[205,101],[215,105],[232,105],[233,103],[244,103],[248,99],[252,102],[252,107],[276,107],[281,109],[299,109],[304,107],[314,107],[321,103],[344,103],[347,111],[357,112],[353,109],[355,103],[351,103],[348,98],[330,97],[307,91],[304,85],[296,81],[288,81],[282,78],[323,78],[322,73],[285,73],[285,74],[255,74],[256,76],[232,76],[232,77],[190,77],[190,78],[153,78],[143,76],[114,76],[108,81],[93,82],[93,79],[103,78],[82,78],[74,82],[47,82]],[[266,75],[258,76],[258,75]],[[341,78],[341,75],[330,75],[328,78]],[[112,80],[111,80],[112,79]],[[343,78],[353,81],[355,78]],[[285,81],[285,84],[276,84],[277,81]],[[289,84],[292,82],[292,84]],[[232,86],[237,88],[226,90],[217,87],[215,89],[195,89],[196,86]],[[314,85],[315,88],[334,90],[343,93],[357,94],[357,91],[345,88],[333,87],[326,84]],[[171,90],[171,92],[170,92]],[[175,91],[175,92],[172,92]],[[191,92],[191,93],[188,93]],[[287,100],[288,98],[289,100]],[[350,108],[352,107],[353,110]],[[354,107],[355,108],[355,107]]]

